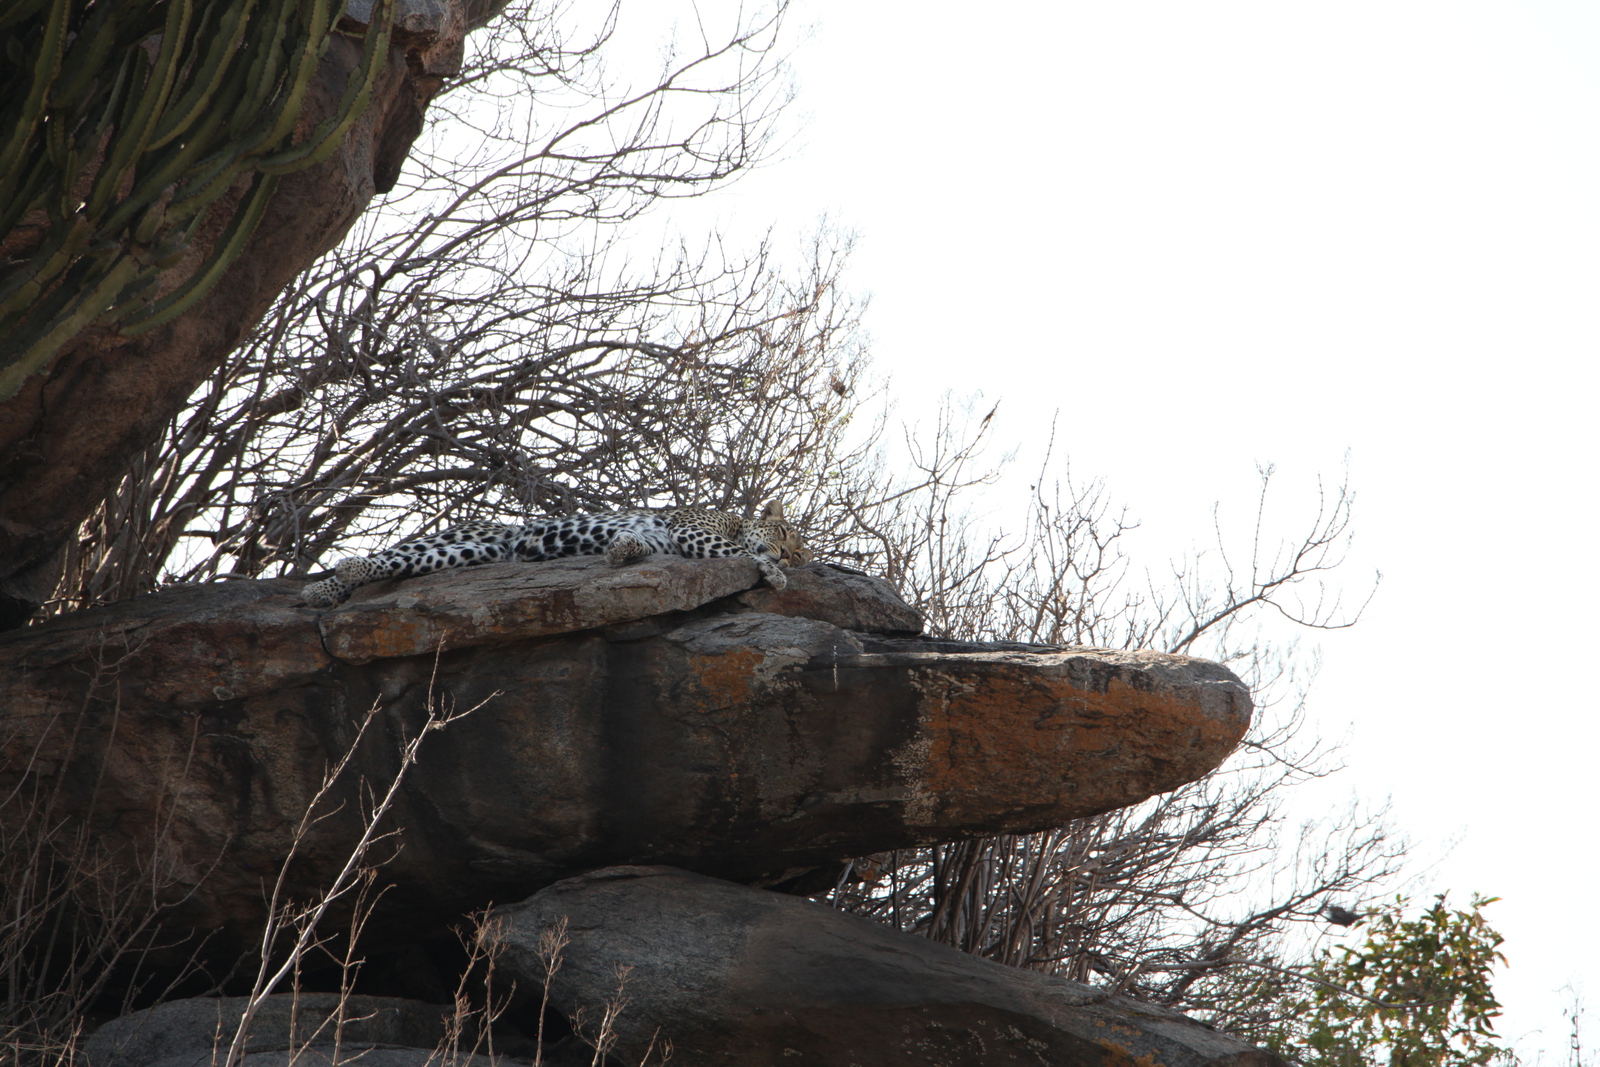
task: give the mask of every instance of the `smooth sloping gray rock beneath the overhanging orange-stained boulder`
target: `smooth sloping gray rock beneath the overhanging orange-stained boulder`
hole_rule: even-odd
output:
[[[1282,1067],[1176,1013],[1006,968],[821,904],[664,867],[616,867],[496,909],[502,966],[542,981],[539,933],[571,944],[566,1013],[614,995],[616,1054],[659,1033],[674,1064],[806,1067]]]

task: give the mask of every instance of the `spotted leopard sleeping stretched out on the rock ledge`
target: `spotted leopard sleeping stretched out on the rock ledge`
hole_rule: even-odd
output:
[[[656,552],[709,560],[747,555],[776,590],[787,589],[784,566],[810,563],[811,549],[784,518],[784,502],[768,501],[758,518],[709,507],[635,507],[592,515],[533,518],[525,523],[472,522],[413,537],[366,557],[339,560],[333,577],[301,590],[307,606],[333,608],[368,582],[418,577],[458,566],[520,560],[538,563],[603,555],[624,566]]]

